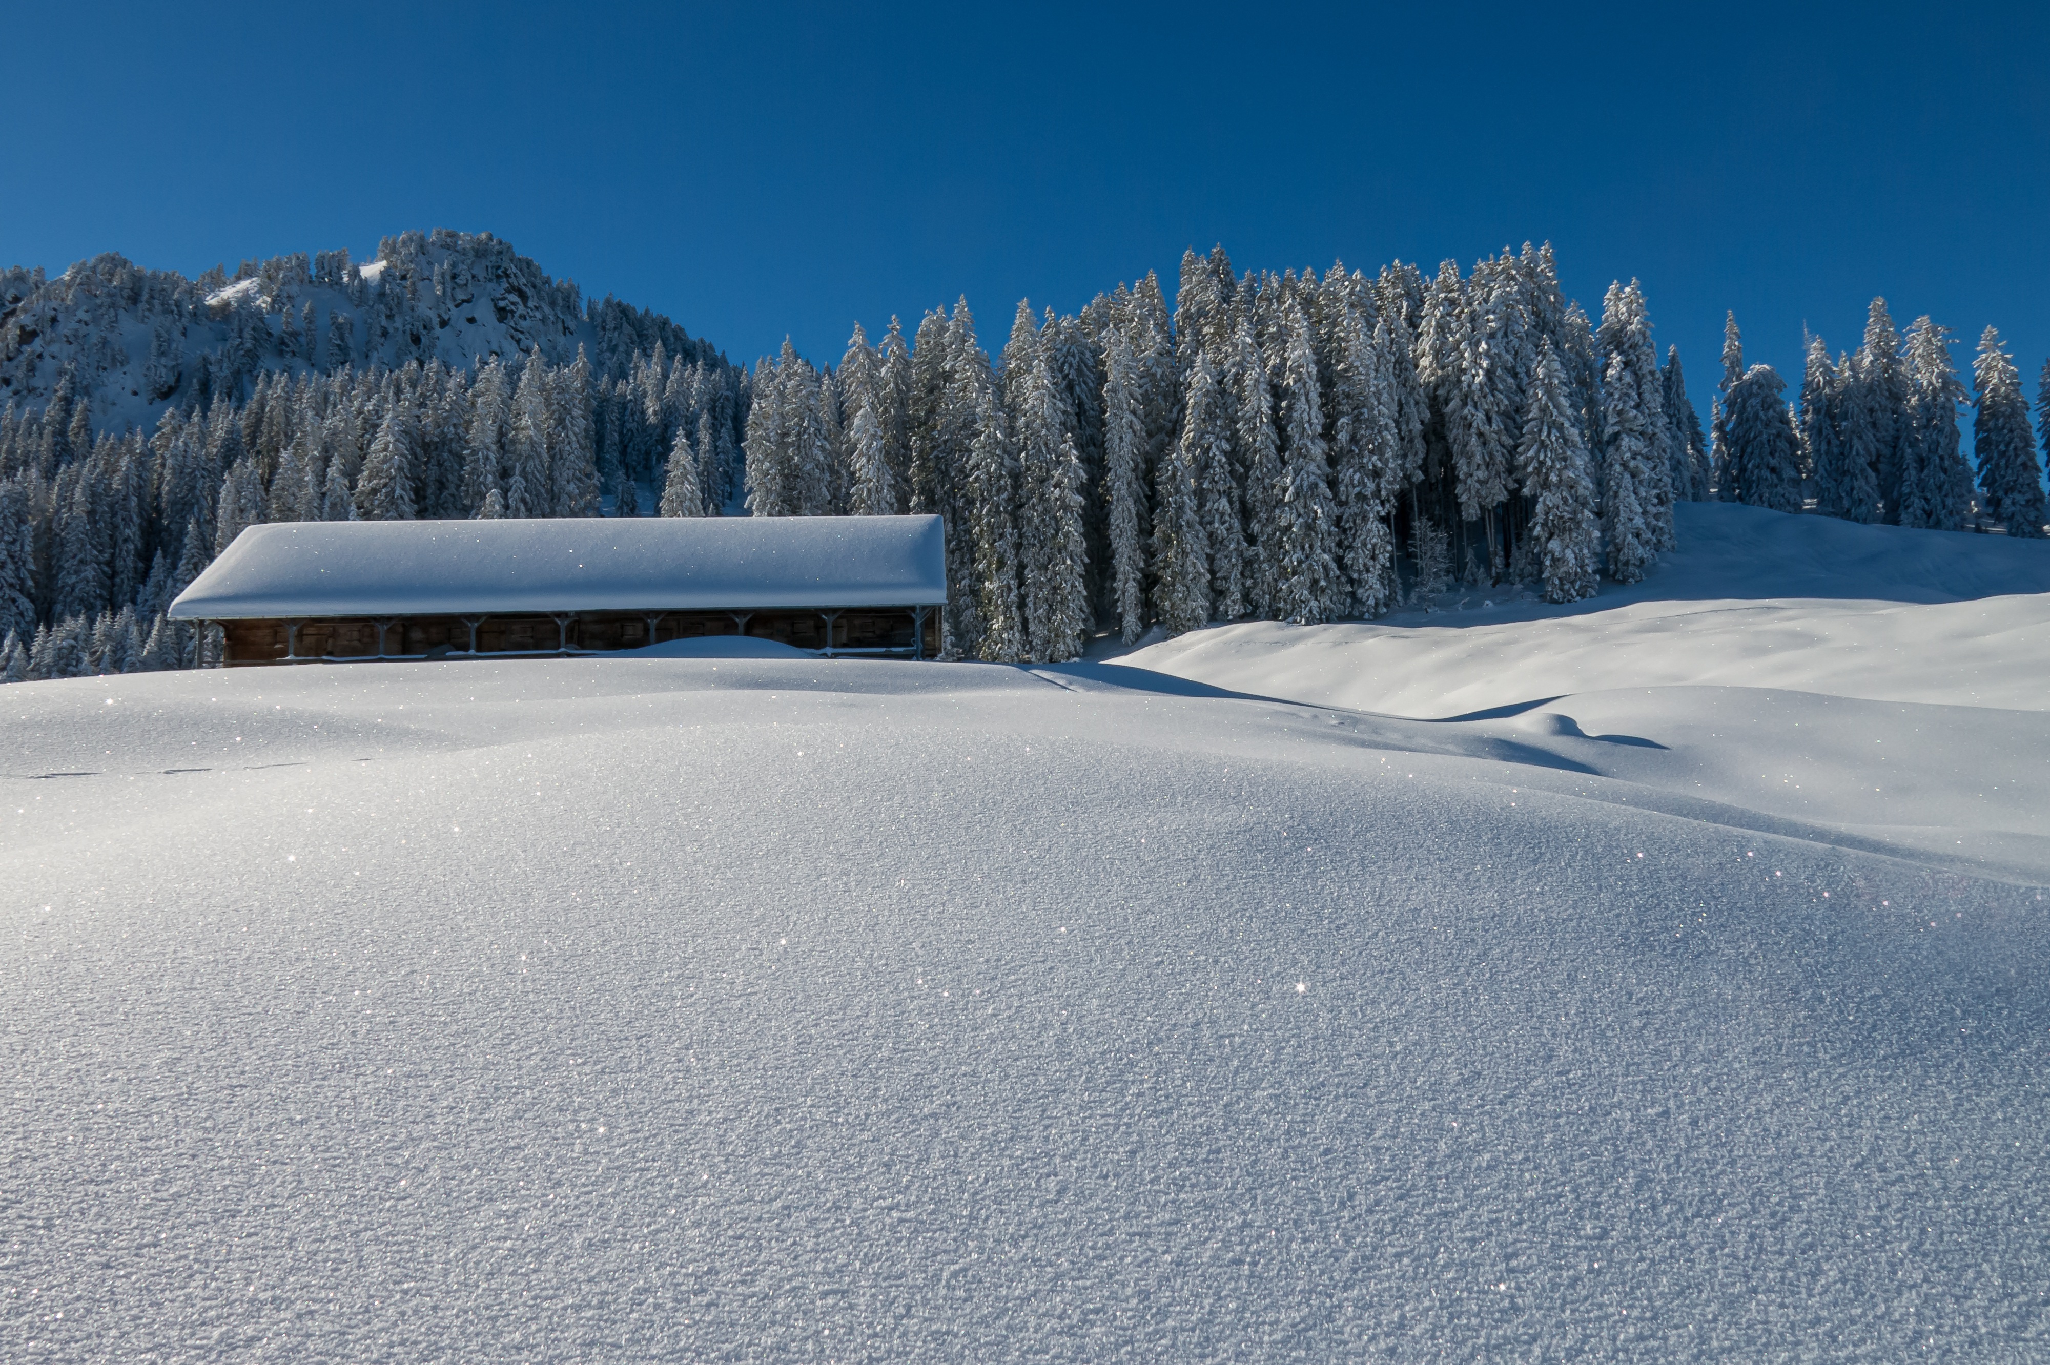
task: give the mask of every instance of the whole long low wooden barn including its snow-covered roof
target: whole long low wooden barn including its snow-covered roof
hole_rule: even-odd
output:
[[[754,635],[933,658],[939,516],[299,521],[250,527],[170,615],[223,664],[640,650]]]

